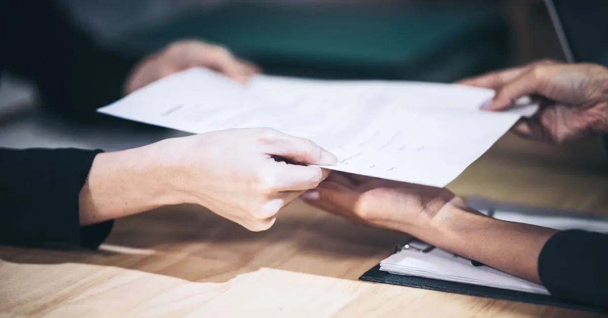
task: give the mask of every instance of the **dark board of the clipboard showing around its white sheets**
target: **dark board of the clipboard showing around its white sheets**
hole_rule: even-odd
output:
[[[469,205],[477,210],[493,210],[494,208],[505,207],[505,204],[492,202],[481,198],[472,198],[468,201]],[[516,206],[513,204],[506,205],[510,210],[517,210],[519,212],[537,214],[548,211],[540,211],[545,209],[530,208]],[[553,215],[564,215],[565,212],[554,212]],[[393,253],[398,252],[399,249],[396,247]],[[515,302],[534,303],[536,305],[548,305],[557,306],[567,309],[575,309],[581,311],[590,311],[592,313],[608,314],[608,309],[599,308],[595,306],[584,305],[581,303],[572,302],[570,300],[558,299],[553,296],[534,294],[533,292],[514,291],[511,289],[503,289],[489,286],[472,285],[468,283],[450,282],[447,280],[439,280],[434,278],[425,278],[412,275],[398,275],[391,274],[380,270],[380,264],[377,264],[367,272],[365,272],[359,280],[367,282],[384,283],[391,285],[409,286],[414,288],[430,289],[434,291],[454,292],[456,294],[465,294],[469,296],[487,297],[494,299],[511,300]]]

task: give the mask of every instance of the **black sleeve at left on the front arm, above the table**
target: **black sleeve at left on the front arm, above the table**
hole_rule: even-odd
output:
[[[0,243],[97,248],[112,222],[81,227],[78,195],[98,153],[0,148]]]

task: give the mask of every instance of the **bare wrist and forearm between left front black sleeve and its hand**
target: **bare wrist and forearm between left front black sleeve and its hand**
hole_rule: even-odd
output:
[[[179,203],[161,154],[152,146],[98,154],[80,190],[80,224],[88,225]]]

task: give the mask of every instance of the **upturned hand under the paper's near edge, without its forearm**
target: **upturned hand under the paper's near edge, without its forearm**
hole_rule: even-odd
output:
[[[460,200],[443,188],[338,172],[302,198],[351,221],[413,235],[448,202]]]

